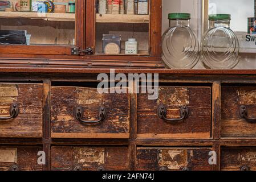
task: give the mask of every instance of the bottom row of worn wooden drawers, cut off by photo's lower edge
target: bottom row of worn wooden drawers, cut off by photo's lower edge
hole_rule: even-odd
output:
[[[0,170],[42,170],[40,146],[0,146]],[[211,171],[211,147],[137,147],[136,170]],[[27,160],[29,159],[29,160]],[[128,170],[126,146],[52,146],[51,170]],[[210,161],[210,163],[209,163]],[[256,170],[256,147],[222,147],[222,170]]]

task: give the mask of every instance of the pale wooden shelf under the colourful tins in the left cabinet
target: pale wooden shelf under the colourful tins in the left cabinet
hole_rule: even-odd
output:
[[[29,19],[44,19],[47,21],[65,21],[74,22],[74,13],[37,13],[37,12],[5,12],[0,11],[0,18],[29,18]]]

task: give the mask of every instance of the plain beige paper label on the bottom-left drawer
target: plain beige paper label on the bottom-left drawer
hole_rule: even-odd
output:
[[[17,163],[17,148],[8,148],[0,150],[0,162]]]

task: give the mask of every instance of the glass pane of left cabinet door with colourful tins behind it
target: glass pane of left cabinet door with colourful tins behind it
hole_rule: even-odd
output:
[[[53,52],[51,46],[75,46],[76,4],[76,0],[0,1],[0,44],[14,50],[44,46],[40,51]]]

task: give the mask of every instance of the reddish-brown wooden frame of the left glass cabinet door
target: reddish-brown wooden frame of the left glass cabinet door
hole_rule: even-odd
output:
[[[76,0],[75,13],[75,46],[53,46],[53,45],[1,45],[0,53],[3,54],[25,54],[25,55],[71,55],[74,47],[83,48],[84,45],[84,15],[86,10],[85,0]]]

